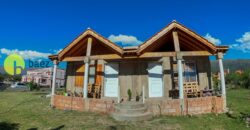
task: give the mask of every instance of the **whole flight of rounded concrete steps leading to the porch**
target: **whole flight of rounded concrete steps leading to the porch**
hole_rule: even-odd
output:
[[[152,118],[152,113],[143,103],[125,102],[115,104],[115,112],[111,116],[118,121],[142,121]]]

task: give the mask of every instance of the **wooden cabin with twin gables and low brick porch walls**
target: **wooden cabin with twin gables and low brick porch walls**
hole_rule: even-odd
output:
[[[58,95],[52,87],[51,105],[112,113],[117,104],[138,102],[153,115],[225,112],[222,59],[227,50],[228,46],[216,46],[176,21],[131,47],[120,47],[87,29],[49,56],[55,70],[58,63],[67,62],[68,96]],[[221,70],[219,94],[213,88],[212,56]]]

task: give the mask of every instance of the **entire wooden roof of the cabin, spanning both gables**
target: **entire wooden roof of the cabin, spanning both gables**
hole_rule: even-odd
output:
[[[52,55],[49,56],[49,58],[63,60],[70,56],[84,56],[82,53],[86,50],[87,39],[89,37],[93,38],[93,45],[95,45],[95,47],[93,47],[95,52],[93,55],[99,52],[105,52],[105,50],[105,54],[114,53],[121,57],[126,55],[141,56],[145,52],[173,52],[173,31],[178,33],[181,48],[180,51],[207,51],[209,54],[214,55],[217,52],[225,53],[228,50],[228,46],[216,46],[182,24],[173,21],[143,44],[136,47],[121,48],[94,30],[87,29],[59,52],[58,55]],[[111,52],[107,52],[107,50]]]

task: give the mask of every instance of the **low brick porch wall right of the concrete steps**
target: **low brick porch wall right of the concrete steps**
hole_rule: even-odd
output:
[[[147,99],[149,111],[154,115],[181,115],[179,99]],[[185,99],[184,114],[222,113],[223,98],[210,96]]]

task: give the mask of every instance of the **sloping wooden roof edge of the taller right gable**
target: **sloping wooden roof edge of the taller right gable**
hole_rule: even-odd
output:
[[[165,34],[171,32],[172,30],[183,31],[184,33],[186,33],[189,36],[198,40],[202,45],[204,45],[207,48],[209,48],[210,50],[212,50],[212,53],[216,53],[216,51],[217,51],[217,47],[213,43],[209,42],[207,39],[201,37],[200,35],[191,31],[187,27],[181,25],[180,23],[173,21],[172,23],[167,25],[165,28],[163,28],[160,32],[156,33],[154,36],[152,36],[147,41],[145,41],[143,44],[141,44],[137,50],[137,54],[140,54],[141,52],[143,52],[146,48],[148,48],[150,45],[154,44],[158,39],[163,37]]]

